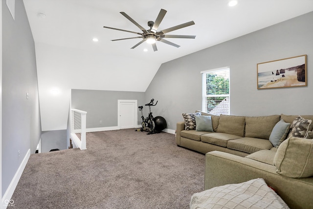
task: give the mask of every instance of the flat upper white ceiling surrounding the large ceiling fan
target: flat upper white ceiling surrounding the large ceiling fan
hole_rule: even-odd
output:
[[[280,23],[313,10],[313,0],[24,0],[35,43],[79,48],[91,52],[148,59],[164,63],[183,55]],[[111,26],[141,32],[119,12],[124,11],[149,29],[159,10],[167,10],[159,30],[181,23],[196,24],[169,34],[196,35],[196,39],[168,39],[179,48],[157,42],[154,52],[148,44],[130,49],[140,39],[112,42],[137,35],[116,31]],[[45,13],[40,18],[38,13]],[[98,43],[92,38],[97,37]],[[148,52],[143,52],[148,48]]]

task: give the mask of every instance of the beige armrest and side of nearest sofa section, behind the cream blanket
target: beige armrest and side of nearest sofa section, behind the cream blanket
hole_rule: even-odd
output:
[[[262,178],[292,209],[313,208],[313,177],[294,179],[276,173],[276,167],[229,153],[212,151],[205,155],[204,189],[239,184]]]

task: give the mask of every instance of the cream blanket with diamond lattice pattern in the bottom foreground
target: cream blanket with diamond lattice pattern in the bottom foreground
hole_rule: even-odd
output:
[[[190,209],[289,209],[263,179],[195,193],[189,206]]]

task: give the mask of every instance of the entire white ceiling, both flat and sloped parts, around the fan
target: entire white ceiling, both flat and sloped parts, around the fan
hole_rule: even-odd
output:
[[[235,7],[228,0],[23,2],[35,42],[43,131],[67,128],[70,89],[145,92],[162,63],[313,11],[313,0],[238,0]],[[167,13],[158,30],[194,21],[168,34],[196,39],[168,39],[179,48],[157,42],[154,52],[146,43],[131,49],[140,39],[112,42],[138,35],[103,28],[141,32],[119,12],[149,29],[161,8]]]

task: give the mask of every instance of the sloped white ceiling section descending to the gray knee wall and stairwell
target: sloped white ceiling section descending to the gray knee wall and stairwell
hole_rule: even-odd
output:
[[[43,131],[67,129],[70,89],[144,92],[159,67],[141,59],[134,62],[136,70],[124,72],[133,58],[41,43],[36,57]],[[116,77],[118,82],[111,79]]]

